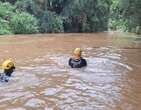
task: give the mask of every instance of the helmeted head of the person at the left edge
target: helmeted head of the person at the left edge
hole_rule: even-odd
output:
[[[14,72],[15,70],[15,66],[14,63],[12,61],[12,59],[7,59],[2,63],[2,68],[4,69],[4,73],[7,76],[11,76],[11,74]]]

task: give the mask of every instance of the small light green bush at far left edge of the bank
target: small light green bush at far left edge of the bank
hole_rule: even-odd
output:
[[[0,35],[3,34],[12,34],[12,32],[8,22],[0,18]]]

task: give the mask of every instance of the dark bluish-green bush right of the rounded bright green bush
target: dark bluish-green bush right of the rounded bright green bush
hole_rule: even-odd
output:
[[[55,13],[45,11],[41,19],[41,32],[64,32],[63,19]]]

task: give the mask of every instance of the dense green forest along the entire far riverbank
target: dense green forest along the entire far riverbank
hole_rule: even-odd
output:
[[[141,34],[141,0],[0,0],[0,34]]]

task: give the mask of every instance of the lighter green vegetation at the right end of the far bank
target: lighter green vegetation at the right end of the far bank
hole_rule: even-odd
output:
[[[112,0],[109,27],[141,34],[141,0]]]

